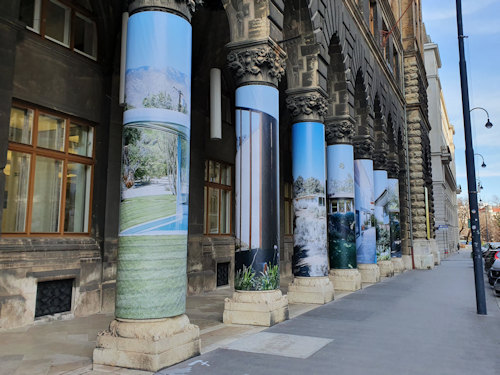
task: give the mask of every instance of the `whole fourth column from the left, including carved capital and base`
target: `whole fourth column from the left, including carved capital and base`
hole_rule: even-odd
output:
[[[350,119],[328,119],[327,209],[330,277],[335,289],[361,289],[356,260],[356,214],[354,204],[354,123]]]

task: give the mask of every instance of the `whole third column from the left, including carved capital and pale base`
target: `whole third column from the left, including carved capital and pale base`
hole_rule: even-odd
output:
[[[292,174],[294,205],[294,280],[290,303],[324,304],[334,298],[328,277],[326,233],[325,95],[290,90],[287,107],[292,116]]]

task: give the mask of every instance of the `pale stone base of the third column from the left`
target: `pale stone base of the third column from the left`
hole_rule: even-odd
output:
[[[324,305],[335,298],[333,283],[328,276],[295,277],[288,286],[289,303],[315,303]]]

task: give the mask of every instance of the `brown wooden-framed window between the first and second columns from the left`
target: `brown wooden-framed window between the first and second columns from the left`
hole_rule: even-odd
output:
[[[203,233],[205,235],[230,235],[232,233],[233,166],[205,161],[205,211]]]

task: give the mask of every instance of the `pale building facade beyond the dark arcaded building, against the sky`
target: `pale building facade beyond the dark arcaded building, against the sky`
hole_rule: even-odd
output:
[[[427,36],[424,45],[425,70],[429,87],[429,120],[432,125],[431,157],[432,183],[434,191],[435,230],[439,253],[435,262],[443,259],[457,249],[458,244],[458,205],[457,179],[455,167],[455,128],[450,124],[446,103],[443,98],[439,69],[441,57],[438,45]]]

